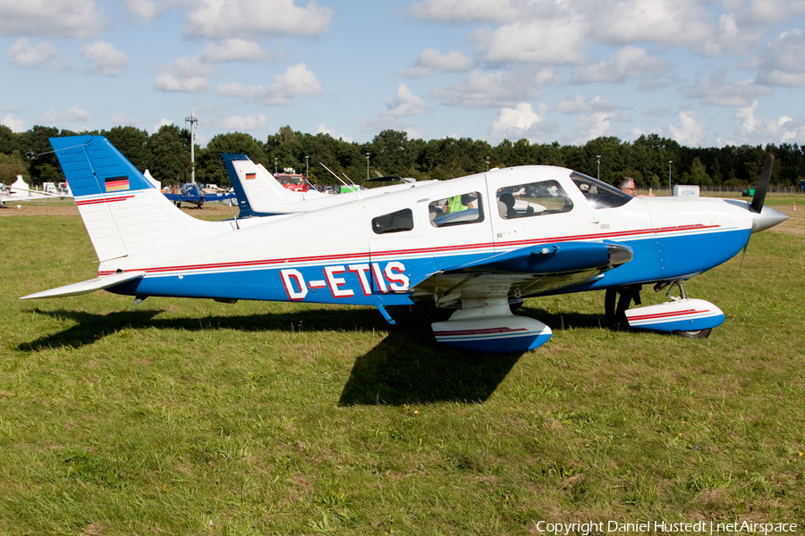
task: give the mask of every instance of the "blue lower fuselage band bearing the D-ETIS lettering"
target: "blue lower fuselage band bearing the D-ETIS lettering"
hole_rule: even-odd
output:
[[[749,236],[747,229],[619,241],[634,252],[629,263],[605,272],[597,281],[559,292],[684,279],[729,260],[741,251]],[[343,264],[284,264],[249,270],[147,274],[139,281],[109,290],[140,297],[220,297],[369,306],[380,301],[386,305],[408,305],[412,303],[411,294],[405,291],[404,283],[416,284],[434,269],[430,257],[422,257],[421,250],[418,255],[409,257],[401,251],[399,255],[384,255],[384,260],[374,263],[358,260]],[[440,267],[460,266],[488,256],[488,251],[456,252],[440,256],[437,263]]]

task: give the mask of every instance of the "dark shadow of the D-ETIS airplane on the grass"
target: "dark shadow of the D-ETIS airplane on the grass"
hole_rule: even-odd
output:
[[[159,309],[91,314],[80,311],[42,311],[55,318],[75,322],[72,327],[31,342],[20,351],[51,348],[81,348],[123,330],[166,329],[180,331],[388,331],[375,348],[359,356],[339,398],[341,406],[401,406],[434,402],[482,403],[511,372],[522,354],[476,354],[438,345],[430,333],[430,322],[444,312],[400,307],[399,319],[391,326],[372,309],[309,310],[284,314],[242,316],[207,315],[195,318],[155,318]],[[579,328],[597,328],[597,314],[547,314],[530,309],[542,322]]]

